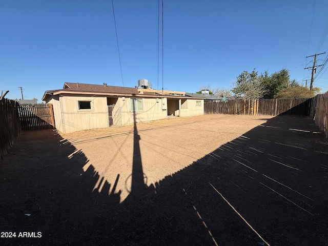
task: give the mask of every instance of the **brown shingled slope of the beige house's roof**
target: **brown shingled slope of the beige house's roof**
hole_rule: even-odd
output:
[[[81,83],[65,83],[64,90],[83,92],[103,92],[117,94],[138,94],[138,90],[132,87],[104,86]]]

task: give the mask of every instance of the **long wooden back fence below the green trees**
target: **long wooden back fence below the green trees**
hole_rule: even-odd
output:
[[[309,116],[313,98],[230,100],[204,103],[204,114]]]

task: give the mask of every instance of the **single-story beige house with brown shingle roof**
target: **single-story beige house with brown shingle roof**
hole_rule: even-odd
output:
[[[161,92],[161,91],[160,91]],[[46,91],[43,100],[53,105],[55,128],[62,133],[131,125],[204,114],[204,98],[184,92],[65,83]]]

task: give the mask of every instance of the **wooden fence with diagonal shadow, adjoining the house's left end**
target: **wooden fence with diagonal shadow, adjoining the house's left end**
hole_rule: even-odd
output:
[[[23,130],[53,129],[55,119],[52,104],[22,104],[18,107]]]

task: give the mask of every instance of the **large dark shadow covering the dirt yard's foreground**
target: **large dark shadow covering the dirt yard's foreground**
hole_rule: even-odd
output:
[[[1,231],[16,232],[0,241],[327,245],[328,145],[318,131],[306,118],[275,117],[150,187],[139,163],[121,203],[115,183],[84,171],[83,152],[51,130],[25,132],[0,162]]]

